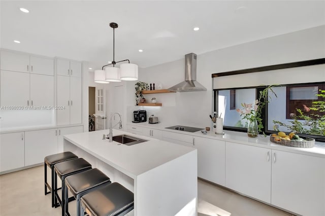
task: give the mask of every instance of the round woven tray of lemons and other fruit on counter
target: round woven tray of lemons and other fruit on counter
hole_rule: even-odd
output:
[[[313,148],[315,139],[307,136],[297,135],[295,132],[286,134],[282,131],[272,133],[270,141],[282,146],[297,147],[297,148]]]

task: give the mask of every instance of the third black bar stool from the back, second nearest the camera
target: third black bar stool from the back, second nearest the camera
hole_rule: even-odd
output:
[[[69,190],[77,200],[77,216],[79,216],[80,198],[93,190],[105,186],[106,184],[111,184],[110,178],[97,168],[88,169],[66,177],[66,182],[64,184],[64,215],[70,216],[68,203]]]

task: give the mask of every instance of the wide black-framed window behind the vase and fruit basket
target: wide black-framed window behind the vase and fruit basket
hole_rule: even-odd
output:
[[[236,89],[215,89],[214,90],[214,110],[222,114],[224,129],[235,131],[247,131],[246,120],[242,120],[239,113],[235,109],[241,109],[241,103],[253,103],[258,98],[258,92],[265,87],[249,87]],[[312,84],[290,84],[281,85],[272,88],[277,97],[272,95],[269,103],[266,105],[262,114],[264,119],[264,132],[267,134],[274,133],[276,130],[290,132],[294,131],[283,125],[292,125],[291,122],[297,121],[302,123],[302,131],[309,131],[307,136],[323,141],[325,139],[325,128],[316,128],[312,130],[311,126],[304,125],[307,121],[299,118],[299,112],[303,115],[311,117],[311,119],[323,118],[325,115],[325,107],[322,110],[314,111],[311,109],[313,102],[324,101],[324,97],[317,96],[319,90],[325,90],[325,83]],[[233,93],[233,95],[232,95]],[[275,122],[274,122],[275,121]],[[283,123],[283,125],[277,122]],[[313,132],[310,132],[313,131]],[[315,132],[316,131],[316,132]],[[307,132],[306,132],[307,133]]]

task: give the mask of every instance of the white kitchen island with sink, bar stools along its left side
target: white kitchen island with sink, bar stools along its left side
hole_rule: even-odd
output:
[[[71,151],[99,168],[112,182],[134,192],[134,215],[197,215],[197,150],[154,138],[113,130],[148,141],[133,146],[103,140],[109,130],[64,136]],[[128,214],[129,215],[129,214]]]

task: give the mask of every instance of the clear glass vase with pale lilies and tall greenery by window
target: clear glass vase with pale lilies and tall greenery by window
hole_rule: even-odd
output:
[[[238,113],[240,113],[242,119],[248,120],[247,135],[249,137],[257,137],[258,133],[263,133],[263,135],[266,136],[264,131],[262,131],[264,128],[262,110],[264,109],[265,104],[269,103],[271,100],[271,95],[269,95],[269,92],[272,92],[274,96],[277,97],[275,92],[272,90],[273,86],[274,85],[267,86],[262,91],[259,91],[258,99],[255,100],[254,104],[241,103],[243,108],[236,110]]]

